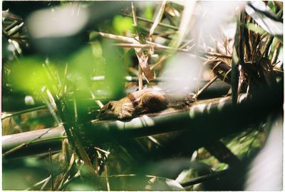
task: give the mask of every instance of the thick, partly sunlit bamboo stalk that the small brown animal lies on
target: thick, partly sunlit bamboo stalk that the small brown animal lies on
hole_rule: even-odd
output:
[[[185,130],[190,135],[203,138],[197,140],[197,142],[201,143],[195,143],[197,146],[201,146],[203,141],[218,139],[229,133],[242,131],[250,123],[262,121],[269,113],[281,110],[283,86],[279,85],[278,87],[266,90],[262,89],[259,92],[261,94],[257,94],[257,96],[260,97],[243,101],[237,106],[232,104],[231,97],[229,96],[199,101],[189,111],[165,113],[160,116],[151,116],[149,114],[148,116],[144,115],[133,118],[131,121],[87,122],[85,126],[82,126],[84,128],[82,131],[85,135],[83,138],[95,141],[95,143],[107,143],[116,140],[152,136],[158,133]],[[268,100],[269,96],[274,97],[274,99]],[[247,113],[244,113],[244,111],[247,111]],[[9,156],[5,156],[5,158],[46,153],[51,146],[53,146],[53,151],[56,151],[61,148],[61,139],[49,142],[40,142],[40,140],[56,136],[61,137],[63,133],[64,129],[58,127],[48,129],[48,131],[43,129],[18,133],[12,136],[3,136],[2,150],[5,153],[16,146],[28,143],[41,136],[38,138],[38,143],[25,146],[9,154]]]

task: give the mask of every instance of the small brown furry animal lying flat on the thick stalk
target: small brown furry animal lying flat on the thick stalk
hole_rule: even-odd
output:
[[[179,100],[179,101],[178,101]],[[143,113],[156,113],[165,110],[167,107],[189,106],[194,102],[192,96],[178,99],[162,94],[154,89],[142,89],[128,94],[119,101],[110,101],[97,116],[99,119],[126,119],[133,118]]]

